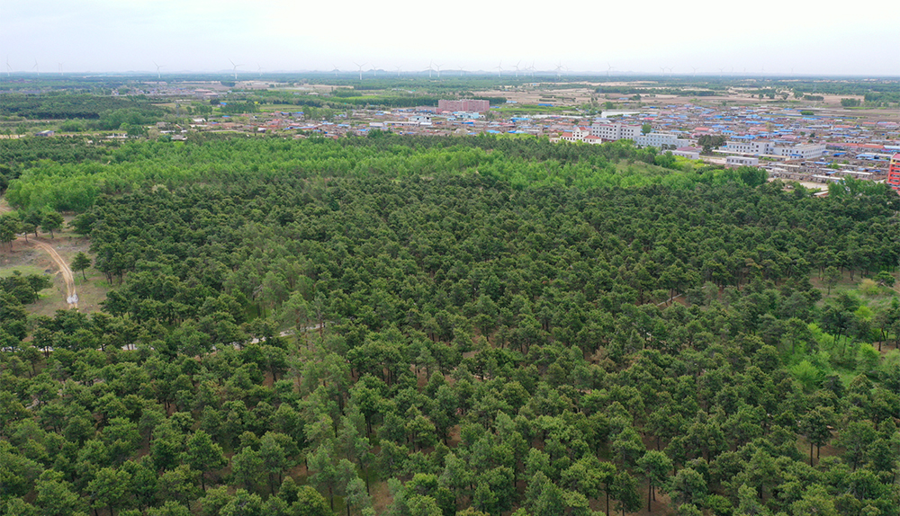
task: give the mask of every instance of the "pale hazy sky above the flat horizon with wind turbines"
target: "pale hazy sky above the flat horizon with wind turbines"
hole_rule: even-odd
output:
[[[14,72],[572,71],[900,76],[900,2],[0,0]],[[4,64],[5,67],[5,64]],[[5,70],[4,70],[5,71]]]

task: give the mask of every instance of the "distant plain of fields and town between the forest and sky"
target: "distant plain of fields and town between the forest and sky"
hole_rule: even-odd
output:
[[[433,71],[429,67],[429,71]],[[343,138],[370,131],[478,134],[600,144],[628,139],[711,165],[758,166],[827,195],[844,177],[900,191],[896,82],[840,77],[477,76],[428,74],[4,77],[0,138],[77,134],[27,120],[13,97],[91,92],[166,107],[145,127],[100,138],[186,139],[192,132]],[[356,80],[355,80],[356,79]],[[12,95],[13,97],[11,97]],[[446,97],[446,98],[445,98]],[[20,115],[20,116],[17,116]],[[27,117],[27,114],[25,115]],[[90,124],[84,124],[89,126]],[[26,131],[26,128],[29,129]],[[116,130],[121,129],[121,130]]]

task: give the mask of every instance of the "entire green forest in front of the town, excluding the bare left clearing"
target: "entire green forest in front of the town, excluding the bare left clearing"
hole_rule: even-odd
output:
[[[4,514],[900,514],[900,307],[814,286],[896,271],[883,185],[512,138],[4,153],[115,286],[0,289]]]

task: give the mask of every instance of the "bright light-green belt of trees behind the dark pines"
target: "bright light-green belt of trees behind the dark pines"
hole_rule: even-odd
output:
[[[36,140],[39,138],[35,138]],[[44,138],[40,138],[43,140]],[[0,149],[15,140],[0,140]],[[40,143],[34,145],[40,146]],[[84,145],[84,144],[82,144]],[[12,145],[0,156],[39,156],[36,149]],[[91,147],[91,146],[87,146]],[[248,177],[366,177],[383,175],[479,174],[489,182],[508,182],[524,190],[546,185],[576,188],[665,184],[690,189],[699,182],[757,184],[764,174],[705,166],[682,170],[668,155],[637,149],[628,141],[602,146],[558,145],[546,138],[401,138],[373,131],[369,138],[284,141],[282,138],[221,138],[193,134],[184,144],[137,141],[106,151],[65,159],[75,151],[54,147],[41,160],[17,166],[6,198],[26,211],[84,211],[103,194],[141,187],[193,182],[243,181]],[[73,155],[74,156],[74,155]],[[658,165],[658,166],[653,166]],[[756,169],[752,169],[754,172]]]

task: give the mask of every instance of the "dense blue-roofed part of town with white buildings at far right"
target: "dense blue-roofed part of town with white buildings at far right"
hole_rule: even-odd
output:
[[[900,151],[896,119],[860,121],[841,112],[811,115],[770,106],[715,109],[677,104],[615,119],[601,117],[590,125],[577,121],[559,140],[599,144],[627,138],[638,147],[726,166],[762,166],[771,177],[812,183],[846,176],[889,181],[890,160]],[[701,156],[697,142],[705,135],[722,137],[725,145],[712,156]],[[900,172],[896,177],[900,185]]]

